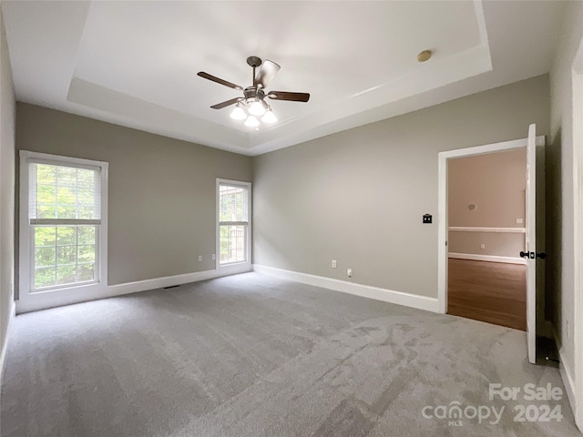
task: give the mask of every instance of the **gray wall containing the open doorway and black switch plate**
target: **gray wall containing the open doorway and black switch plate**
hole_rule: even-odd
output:
[[[537,76],[253,158],[254,262],[437,296],[437,153],[549,133]],[[331,260],[338,260],[338,269]]]

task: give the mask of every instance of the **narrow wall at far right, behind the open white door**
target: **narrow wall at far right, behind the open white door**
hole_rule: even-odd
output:
[[[579,384],[579,387],[583,387],[583,362],[576,362],[573,323],[576,310],[574,297],[581,290],[575,290],[575,272],[578,266],[573,262],[576,244],[573,239],[576,192],[573,180],[575,162],[571,76],[578,45],[583,38],[583,2],[569,2],[562,29],[563,35],[550,70],[552,144],[547,147],[546,155],[547,263],[553,269],[554,280],[547,280],[547,288],[553,290],[554,325],[561,352],[561,365],[569,378]],[[577,244],[581,244],[580,239]],[[578,425],[583,429],[583,400],[580,398],[578,408],[581,410]]]

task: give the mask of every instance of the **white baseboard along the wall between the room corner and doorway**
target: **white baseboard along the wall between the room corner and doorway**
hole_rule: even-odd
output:
[[[292,270],[275,269],[258,264],[253,265],[253,269],[264,275],[269,275],[281,279],[290,279],[296,282],[302,282],[302,284],[313,285],[315,287],[342,291],[343,293],[362,296],[363,298],[383,300],[384,302],[404,305],[405,307],[412,307],[418,310],[427,310],[433,312],[437,312],[438,310],[436,298],[418,296],[416,294],[405,293],[403,291],[386,290],[369,285],[355,284],[346,280],[325,278],[323,276],[310,275]]]

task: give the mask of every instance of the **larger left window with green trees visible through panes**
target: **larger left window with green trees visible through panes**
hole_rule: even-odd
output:
[[[27,290],[99,283],[105,264],[101,195],[107,163],[32,152],[22,152],[21,160],[26,173],[21,185],[28,182],[21,187],[21,201],[27,200],[21,208]]]

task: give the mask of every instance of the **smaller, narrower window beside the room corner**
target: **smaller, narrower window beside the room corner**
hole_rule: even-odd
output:
[[[251,184],[218,179],[219,265],[251,262]]]

